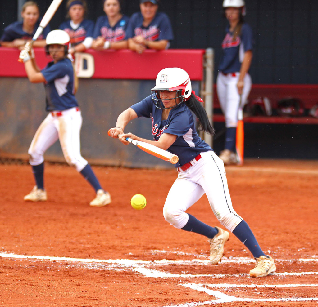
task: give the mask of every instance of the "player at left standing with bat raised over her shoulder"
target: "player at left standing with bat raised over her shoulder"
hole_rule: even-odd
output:
[[[29,80],[32,83],[44,83],[46,110],[49,111],[36,131],[28,151],[36,185],[24,200],[33,202],[47,200],[43,183],[43,155],[59,139],[66,162],[74,166],[96,191],[96,197],[90,205],[101,207],[109,204],[111,198],[110,194],[101,188],[92,168],[80,154],[79,135],[82,116],[74,96],[73,65],[67,58],[69,42],[70,37],[63,30],[53,30],[48,33],[45,52],[53,61],[41,71],[37,68],[30,47],[24,47],[20,53]]]

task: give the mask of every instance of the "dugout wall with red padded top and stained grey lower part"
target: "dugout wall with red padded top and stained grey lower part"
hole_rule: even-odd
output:
[[[38,66],[44,67],[49,61],[44,50],[36,49],[35,54]],[[93,56],[93,76],[79,79],[76,94],[83,116],[83,157],[102,165],[172,167],[135,146],[123,146],[108,137],[107,130],[124,109],[150,94],[157,73],[165,67],[186,70],[198,92],[204,77],[205,50],[146,50],[141,55],[130,50],[88,50],[87,54]],[[32,137],[47,114],[43,85],[28,81],[18,56],[17,50],[0,48],[0,158],[27,159]],[[83,66],[91,64],[82,62]],[[150,120],[138,119],[129,123],[126,131],[151,138],[150,125]],[[60,145],[54,144],[45,159],[64,161]]]

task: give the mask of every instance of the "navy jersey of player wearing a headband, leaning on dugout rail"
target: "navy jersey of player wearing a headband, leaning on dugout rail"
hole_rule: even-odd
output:
[[[61,23],[59,29],[68,33],[72,46],[82,43],[86,37],[93,37],[94,22],[92,20],[84,19],[76,29],[72,27],[70,22],[71,20]]]

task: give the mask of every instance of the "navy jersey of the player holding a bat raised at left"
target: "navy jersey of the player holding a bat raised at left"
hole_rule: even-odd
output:
[[[45,78],[46,110],[67,110],[77,107],[74,96],[74,71],[70,59],[50,62],[41,71]]]

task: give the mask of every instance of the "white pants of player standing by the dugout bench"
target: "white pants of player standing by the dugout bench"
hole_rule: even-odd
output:
[[[231,73],[226,75],[221,72],[218,73],[217,93],[220,107],[225,117],[226,128],[237,127],[240,102],[240,95],[237,88],[238,81],[239,72],[236,72],[235,76]],[[246,74],[244,77],[242,105],[245,105],[247,102],[247,97],[250,94],[251,88],[252,78],[249,74]]]

